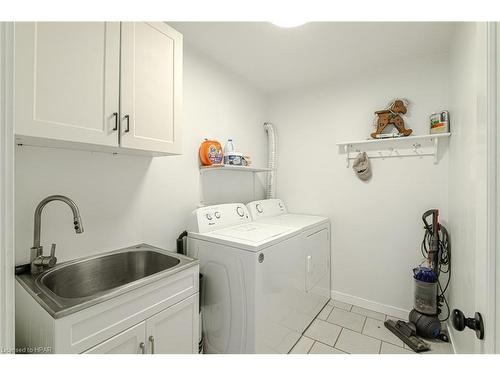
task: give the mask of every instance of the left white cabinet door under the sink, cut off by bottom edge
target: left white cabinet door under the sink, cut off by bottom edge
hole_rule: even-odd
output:
[[[84,354],[143,354],[146,322],[139,323],[94,346]]]

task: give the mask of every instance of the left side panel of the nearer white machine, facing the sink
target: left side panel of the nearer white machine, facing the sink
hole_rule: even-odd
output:
[[[250,262],[255,254],[188,237],[188,255],[200,260],[203,274],[205,352],[253,353],[253,264]]]

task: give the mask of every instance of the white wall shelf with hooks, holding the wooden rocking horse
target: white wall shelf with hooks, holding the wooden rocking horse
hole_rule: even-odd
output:
[[[369,158],[391,158],[408,156],[433,156],[438,163],[439,142],[449,138],[451,133],[413,135],[400,138],[366,139],[361,141],[337,143],[341,153],[346,155],[346,164],[356,159],[360,152]]]

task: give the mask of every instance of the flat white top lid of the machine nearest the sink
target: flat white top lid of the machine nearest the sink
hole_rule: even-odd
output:
[[[209,233],[190,232],[188,235],[192,238],[256,252],[291,238],[298,233],[296,229],[290,227],[250,222]]]

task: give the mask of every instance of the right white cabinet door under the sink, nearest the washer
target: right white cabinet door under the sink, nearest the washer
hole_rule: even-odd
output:
[[[198,298],[196,293],[146,320],[148,353],[198,352]]]

